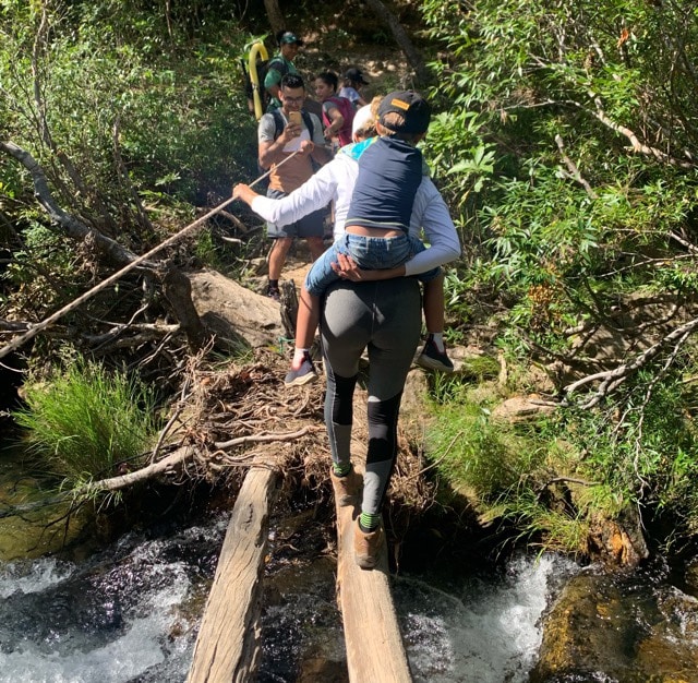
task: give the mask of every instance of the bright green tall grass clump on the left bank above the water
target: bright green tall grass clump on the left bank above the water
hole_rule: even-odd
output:
[[[154,443],[153,392],[120,372],[79,361],[47,382],[25,385],[26,408],[14,414],[29,452],[63,487],[135,469]]]

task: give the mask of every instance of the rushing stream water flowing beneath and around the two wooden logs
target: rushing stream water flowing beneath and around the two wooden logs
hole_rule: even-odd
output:
[[[3,468],[0,479],[11,469]],[[16,491],[16,484],[0,487],[0,504]],[[336,566],[326,519],[316,514],[306,506],[273,519],[261,683],[347,681]],[[226,514],[189,526],[161,523],[67,559],[28,551],[17,558],[17,525],[23,529],[25,523],[0,519],[0,538],[15,538],[14,556],[7,548],[0,552],[0,683],[185,681],[227,519]],[[545,554],[516,556],[494,568],[473,564],[428,562],[406,566],[394,578],[416,683],[525,683],[542,642],[541,615],[586,572]],[[655,590],[634,579],[634,604]],[[647,630],[650,616],[633,609],[637,627]],[[698,621],[694,625],[698,644]],[[593,657],[590,667],[597,664]],[[555,681],[647,681],[598,675]],[[686,676],[652,680],[693,683]]]

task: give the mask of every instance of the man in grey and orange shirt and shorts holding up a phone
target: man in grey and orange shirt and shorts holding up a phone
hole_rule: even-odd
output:
[[[322,166],[332,158],[320,119],[302,109],[305,86],[301,76],[286,74],[278,96],[280,108],[265,113],[257,129],[260,166],[272,169],[266,194],[276,199],[300,188],[313,175],[313,163]],[[324,215],[320,209],[290,225],[267,223],[267,237],[274,240],[267,296],[274,300],[279,300],[279,277],[294,238],[308,241],[313,261],[323,253]]]

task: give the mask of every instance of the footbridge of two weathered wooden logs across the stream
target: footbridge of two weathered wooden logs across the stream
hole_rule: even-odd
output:
[[[230,517],[196,638],[186,683],[248,683],[261,655],[261,594],[268,510],[277,472],[256,462]],[[353,559],[356,506],[337,506],[337,595],[345,625],[350,683],[411,683],[389,586],[387,548],[378,564]]]

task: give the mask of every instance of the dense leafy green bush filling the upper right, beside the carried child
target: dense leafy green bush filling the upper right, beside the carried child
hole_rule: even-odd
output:
[[[461,279],[506,302],[503,340],[563,352],[559,333],[602,319],[613,297],[693,295],[695,268],[672,236],[695,235],[694,10],[629,0],[422,8],[445,48],[432,63],[443,110],[432,164],[470,229],[466,252],[477,249]]]

